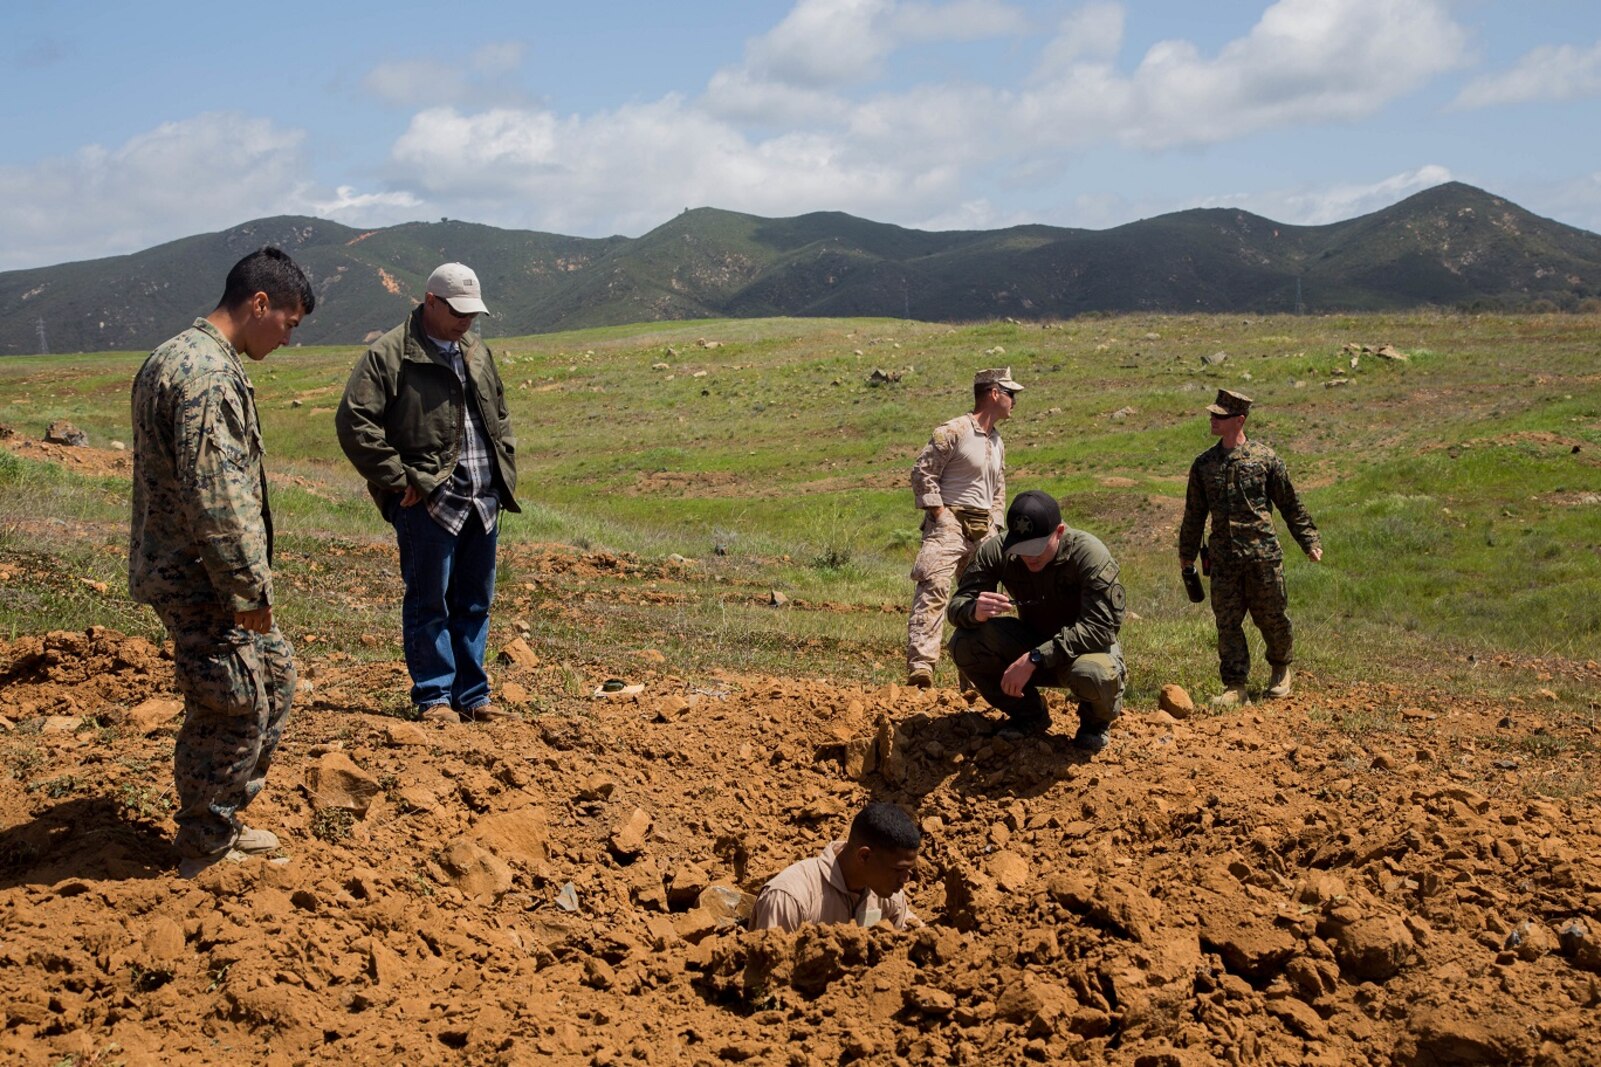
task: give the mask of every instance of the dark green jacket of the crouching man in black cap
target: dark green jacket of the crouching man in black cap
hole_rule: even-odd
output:
[[[1093,534],[1061,535],[1057,558],[1039,572],[1001,551],[1001,537],[978,546],[962,580],[951,593],[945,615],[954,626],[980,625],[973,617],[980,593],[1005,586],[1017,615],[1050,639],[1039,647],[1045,666],[1063,666],[1087,652],[1109,652],[1122,628],[1126,609],[1117,561]]]

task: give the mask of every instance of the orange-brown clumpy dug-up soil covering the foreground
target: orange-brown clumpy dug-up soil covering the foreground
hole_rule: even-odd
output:
[[[626,562],[626,561],[620,561]],[[600,561],[583,566],[610,570]],[[56,1062],[1601,1061],[1596,724],[1426,691],[1129,708],[1090,759],[954,692],[796,678],[435,726],[307,652],[250,820],[176,878],[160,650],[0,647],[5,1048]],[[644,654],[640,654],[644,657]],[[660,655],[660,654],[656,654]],[[549,671],[549,673],[546,673]],[[72,697],[98,729],[62,724]],[[134,723],[144,723],[134,729]],[[1539,731],[1539,732],[1535,732]],[[1540,795],[1540,790],[1555,795]],[[748,932],[866,799],[925,926]]]

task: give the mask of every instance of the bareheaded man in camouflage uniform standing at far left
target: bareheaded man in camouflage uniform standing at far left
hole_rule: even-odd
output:
[[[240,356],[266,359],[315,304],[293,260],[253,252],[216,309],[150,352],[133,381],[128,591],[173,639],[184,876],[279,846],[239,819],[266,783],[295,695],[293,650],[272,620],[272,511]]]

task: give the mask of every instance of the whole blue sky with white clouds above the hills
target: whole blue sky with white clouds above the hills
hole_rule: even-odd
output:
[[[1601,232],[1595,0],[43,0],[6,22],[0,269],[288,213],[1327,223],[1452,179]]]

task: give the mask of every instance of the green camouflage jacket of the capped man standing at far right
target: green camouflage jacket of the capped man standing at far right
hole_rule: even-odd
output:
[[[1180,558],[1194,559],[1201,553],[1201,534],[1210,514],[1214,559],[1284,559],[1273,532],[1273,508],[1284,513],[1303,551],[1319,546],[1318,527],[1273,449],[1255,441],[1244,441],[1236,449],[1225,449],[1222,442],[1212,445],[1190,465],[1185,519],[1178,525]]]

